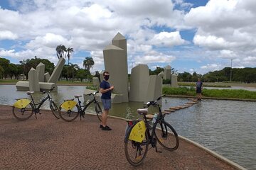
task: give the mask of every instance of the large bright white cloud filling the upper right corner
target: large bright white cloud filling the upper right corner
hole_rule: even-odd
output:
[[[253,0],[210,0],[206,6],[191,8],[184,20],[197,28],[193,42],[209,50],[230,50],[234,54],[254,50],[256,13],[250,7],[254,4]]]

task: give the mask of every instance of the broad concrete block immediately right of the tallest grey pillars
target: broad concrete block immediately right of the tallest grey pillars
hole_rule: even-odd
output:
[[[146,101],[148,86],[149,67],[146,64],[139,64],[132,68],[129,88],[129,101]]]

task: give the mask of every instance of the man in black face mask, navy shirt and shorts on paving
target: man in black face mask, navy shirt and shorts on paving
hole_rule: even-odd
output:
[[[114,86],[110,86],[108,79],[110,79],[109,72],[103,72],[104,80],[100,83],[100,93],[102,93],[102,105],[103,105],[103,113],[102,113],[102,123],[100,128],[102,130],[112,130],[109,126],[107,126],[107,115],[111,108],[111,91],[114,89]]]

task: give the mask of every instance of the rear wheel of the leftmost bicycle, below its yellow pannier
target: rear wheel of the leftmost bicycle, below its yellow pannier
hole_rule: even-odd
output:
[[[13,106],[13,114],[18,120],[28,120],[33,115],[33,105],[29,103],[26,108],[16,108]]]

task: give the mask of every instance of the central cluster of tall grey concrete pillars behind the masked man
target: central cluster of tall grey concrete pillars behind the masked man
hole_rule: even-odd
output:
[[[107,45],[103,50],[105,70],[110,72],[110,84],[114,85],[111,100],[112,103],[122,103],[128,101],[147,102],[154,101],[161,96],[162,79],[159,76],[149,77],[149,67],[139,64],[132,69],[130,86],[128,85],[128,64],[127,64],[127,40],[120,33],[114,36],[112,44]],[[100,81],[103,80],[103,72],[100,72]],[[171,73],[171,70],[170,70]],[[164,73],[162,73],[164,76]],[[171,78],[171,75],[170,75]],[[93,79],[93,84],[97,86],[98,80]],[[92,90],[85,89],[86,94]],[[97,100],[100,94],[97,94]]]

